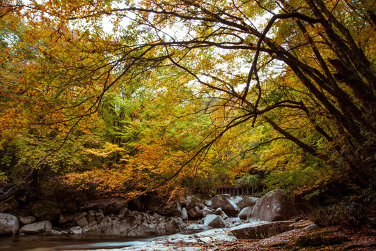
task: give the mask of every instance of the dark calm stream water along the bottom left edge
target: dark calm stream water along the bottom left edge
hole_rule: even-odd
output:
[[[124,248],[160,238],[126,238],[118,236],[8,236],[0,238],[0,251],[98,250]]]

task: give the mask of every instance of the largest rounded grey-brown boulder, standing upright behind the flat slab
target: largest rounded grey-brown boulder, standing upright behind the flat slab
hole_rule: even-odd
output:
[[[280,189],[268,192],[260,198],[252,209],[249,218],[277,221],[288,220],[294,215],[293,203]]]

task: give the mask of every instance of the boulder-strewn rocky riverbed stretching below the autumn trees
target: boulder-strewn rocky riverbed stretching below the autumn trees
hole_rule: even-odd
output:
[[[340,228],[321,230],[313,222],[296,217],[294,204],[281,190],[261,198],[187,197],[169,205],[159,198],[146,197],[115,201],[101,208],[86,207],[85,211],[66,205],[64,209],[52,201],[36,201],[24,207],[13,201],[1,204],[1,208],[6,212],[0,213],[0,236],[39,234],[46,238],[60,236],[62,241],[72,240],[72,236],[128,240],[164,236],[130,247],[116,245],[113,240],[116,250],[320,250],[321,247],[368,250],[376,246],[373,231],[348,234],[349,231]],[[362,239],[361,244],[353,236]],[[8,243],[8,250],[17,250],[10,239],[6,240],[3,243]],[[100,248],[90,248],[84,242],[81,245],[85,250]],[[74,249],[79,250],[79,245]]]

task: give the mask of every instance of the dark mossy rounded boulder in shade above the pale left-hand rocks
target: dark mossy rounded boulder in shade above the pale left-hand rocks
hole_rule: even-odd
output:
[[[52,201],[36,201],[29,205],[36,220],[55,220],[61,214],[61,206]]]

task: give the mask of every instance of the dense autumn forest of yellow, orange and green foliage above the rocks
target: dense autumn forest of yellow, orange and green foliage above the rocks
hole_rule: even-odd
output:
[[[1,200],[235,185],[375,203],[373,1],[0,6]]]

